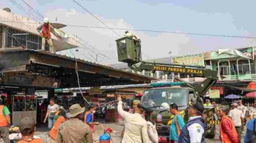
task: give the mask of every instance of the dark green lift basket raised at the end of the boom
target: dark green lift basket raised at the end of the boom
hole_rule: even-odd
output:
[[[119,38],[117,42],[117,55],[119,62],[134,64],[142,60],[141,44],[133,38]]]

